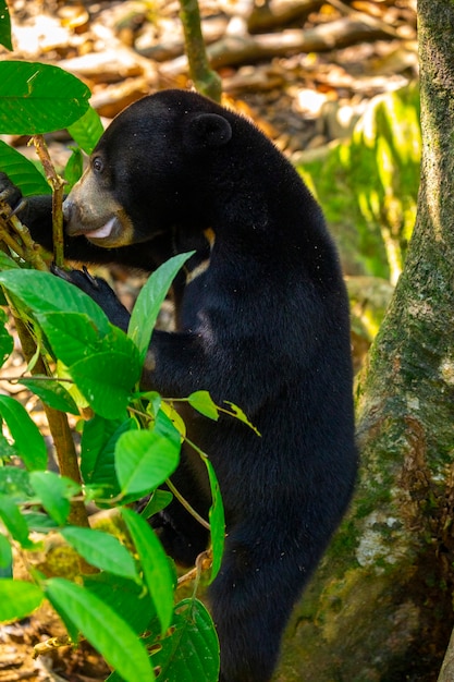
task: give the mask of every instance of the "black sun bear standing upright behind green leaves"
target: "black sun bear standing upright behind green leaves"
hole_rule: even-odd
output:
[[[15,206],[20,193],[2,174]],[[50,199],[21,219],[52,246]],[[354,444],[348,303],[320,207],[245,118],[183,90],[135,102],[111,123],[64,203],[65,255],[147,271],[195,249],[174,283],[176,331],[155,331],[143,385],[208,390],[258,428],[185,413],[218,475],[226,514],[209,598],[222,682],[268,682],[282,633],[348,504]],[[126,329],[102,280],[71,279]],[[204,471],[203,471],[204,468]],[[205,467],[183,449],[174,484],[207,516]],[[174,500],[154,525],[183,564],[207,532]]]

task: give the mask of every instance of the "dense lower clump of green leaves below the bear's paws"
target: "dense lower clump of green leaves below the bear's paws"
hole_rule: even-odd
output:
[[[151,290],[157,297],[162,297],[186,257],[176,256],[152,275],[142,300]],[[152,680],[155,661],[151,659],[150,665],[136,635],[147,631],[146,648],[151,649],[154,638],[182,638],[181,625],[177,625],[182,611],[173,604],[174,570],[158,538],[145,519],[125,506],[152,492],[167,480],[177,465],[184,436],[164,412],[163,405],[171,406],[171,400],[137,390],[140,353],[148,344],[149,336],[142,337],[140,344],[136,345],[131,337],[108,321],[86,294],[70,283],[48,272],[13,267],[4,254],[1,265],[11,265],[10,269],[0,272],[0,283],[8,297],[14,301],[15,310],[33,321],[41,351],[47,349],[47,354],[58,360],[60,367],[64,365],[64,376],[72,379],[70,382],[34,376],[24,379],[24,383],[48,404],[76,412],[75,401],[65,388],[74,382],[84,404],[87,403],[94,414],[83,425],[81,468],[84,483],[81,486],[46,471],[42,435],[19,402],[1,397],[0,415],[8,427],[9,438],[2,437],[0,517],[7,528],[7,538],[22,548],[23,557],[30,555],[26,562],[35,584],[21,584],[22,597],[16,599],[16,582],[8,576],[0,581],[0,592],[5,595],[0,605],[0,620],[22,618],[48,598],[63,618],[72,641],[77,642],[78,633],[82,633],[110,665],[116,667],[124,680],[137,680],[138,674],[140,679]],[[136,320],[140,319],[140,306],[142,301],[138,301],[134,310]],[[150,334],[154,320],[148,317],[146,322]],[[195,394],[188,400],[197,409],[201,398],[200,412],[206,413],[206,405],[209,405],[217,417],[218,409],[208,394]],[[218,510],[221,502],[216,476],[203,456],[212,482],[213,510]],[[19,461],[24,468],[12,466]],[[99,507],[120,508],[128,541],[121,541],[103,531],[74,526],[70,521],[71,502],[81,496]],[[164,503],[168,501],[165,498]],[[213,555],[219,567],[222,514],[216,516],[212,513],[210,521],[216,537]],[[99,574],[90,575],[89,580],[85,576],[83,585],[39,574],[33,568],[33,552],[40,545],[30,539],[32,532],[59,533],[78,553],[81,561],[98,569]],[[0,557],[2,567],[8,568],[11,576],[11,550],[3,541]],[[99,590],[98,585],[103,589]],[[132,594],[127,609],[123,604],[124,590],[119,585],[125,585],[126,594]],[[131,614],[128,609],[132,609]],[[198,647],[209,648],[209,656],[205,653],[208,656],[206,677],[188,677],[189,673],[179,677],[180,673],[169,672],[170,677],[160,674],[158,679],[216,680],[218,654],[212,624],[210,638],[206,641],[204,633],[197,634],[198,629],[193,622],[194,618],[196,622],[200,618],[207,629],[208,617],[194,616],[205,613],[203,607],[193,599],[184,612],[187,623],[192,623],[191,637]],[[115,651],[123,651],[125,647],[128,656],[116,657]],[[176,645],[169,644],[169,647],[175,661],[180,660]],[[172,656],[168,654],[165,667],[169,670],[172,670]]]

